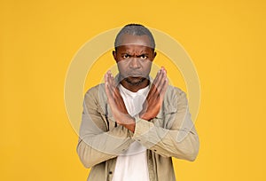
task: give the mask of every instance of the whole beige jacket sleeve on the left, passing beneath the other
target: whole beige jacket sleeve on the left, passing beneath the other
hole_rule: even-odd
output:
[[[85,94],[82,123],[76,151],[86,168],[116,157],[132,142],[129,130],[118,125],[109,130],[106,114],[103,114],[98,101],[98,91],[92,88]],[[111,126],[110,126],[111,127]]]

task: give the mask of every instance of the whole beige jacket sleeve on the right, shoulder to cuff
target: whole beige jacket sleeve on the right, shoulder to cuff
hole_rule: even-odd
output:
[[[185,93],[177,88],[174,92],[168,98],[168,102],[174,101],[174,109],[165,110],[161,118],[155,117],[150,122],[137,118],[132,138],[162,156],[194,161],[200,146],[198,134]],[[164,123],[161,126],[159,122]]]

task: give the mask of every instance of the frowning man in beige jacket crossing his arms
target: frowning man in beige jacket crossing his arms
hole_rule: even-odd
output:
[[[88,180],[176,180],[171,157],[194,161],[199,151],[185,93],[164,67],[149,76],[156,52],[144,26],[125,26],[114,46],[119,75],[108,71],[84,98],[77,153]]]

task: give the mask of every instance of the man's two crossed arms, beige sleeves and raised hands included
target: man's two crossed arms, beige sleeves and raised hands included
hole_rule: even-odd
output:
[[[138,141],[153,152],[162,156],[193,161],[199,151],[199,138],[188,111],[184,92],[176,90],[173,101],[176,110],[162,118],[160,112],[168,82],[165,70],[161,69],[153,81],[139,118],[132,118],[122,101],[119,91],[114,87],[113,76],[106,74],[106,96],[117,127],[106,128],[107,120],[98,110],[97,99],[88,92],[84,99],[82,125],[77,153],[87,168],[102,161],[112,159],[127,149],[133,141]],[[159,122],[170,122],[162,128]]]

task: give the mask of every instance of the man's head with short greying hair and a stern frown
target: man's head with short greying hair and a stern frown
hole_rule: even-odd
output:
[[[149,29],[138,24],[126,25],[116,36],[114,46],[113,58],[124,84],[137,86],[144,83],[156,56],[153,35]]]

